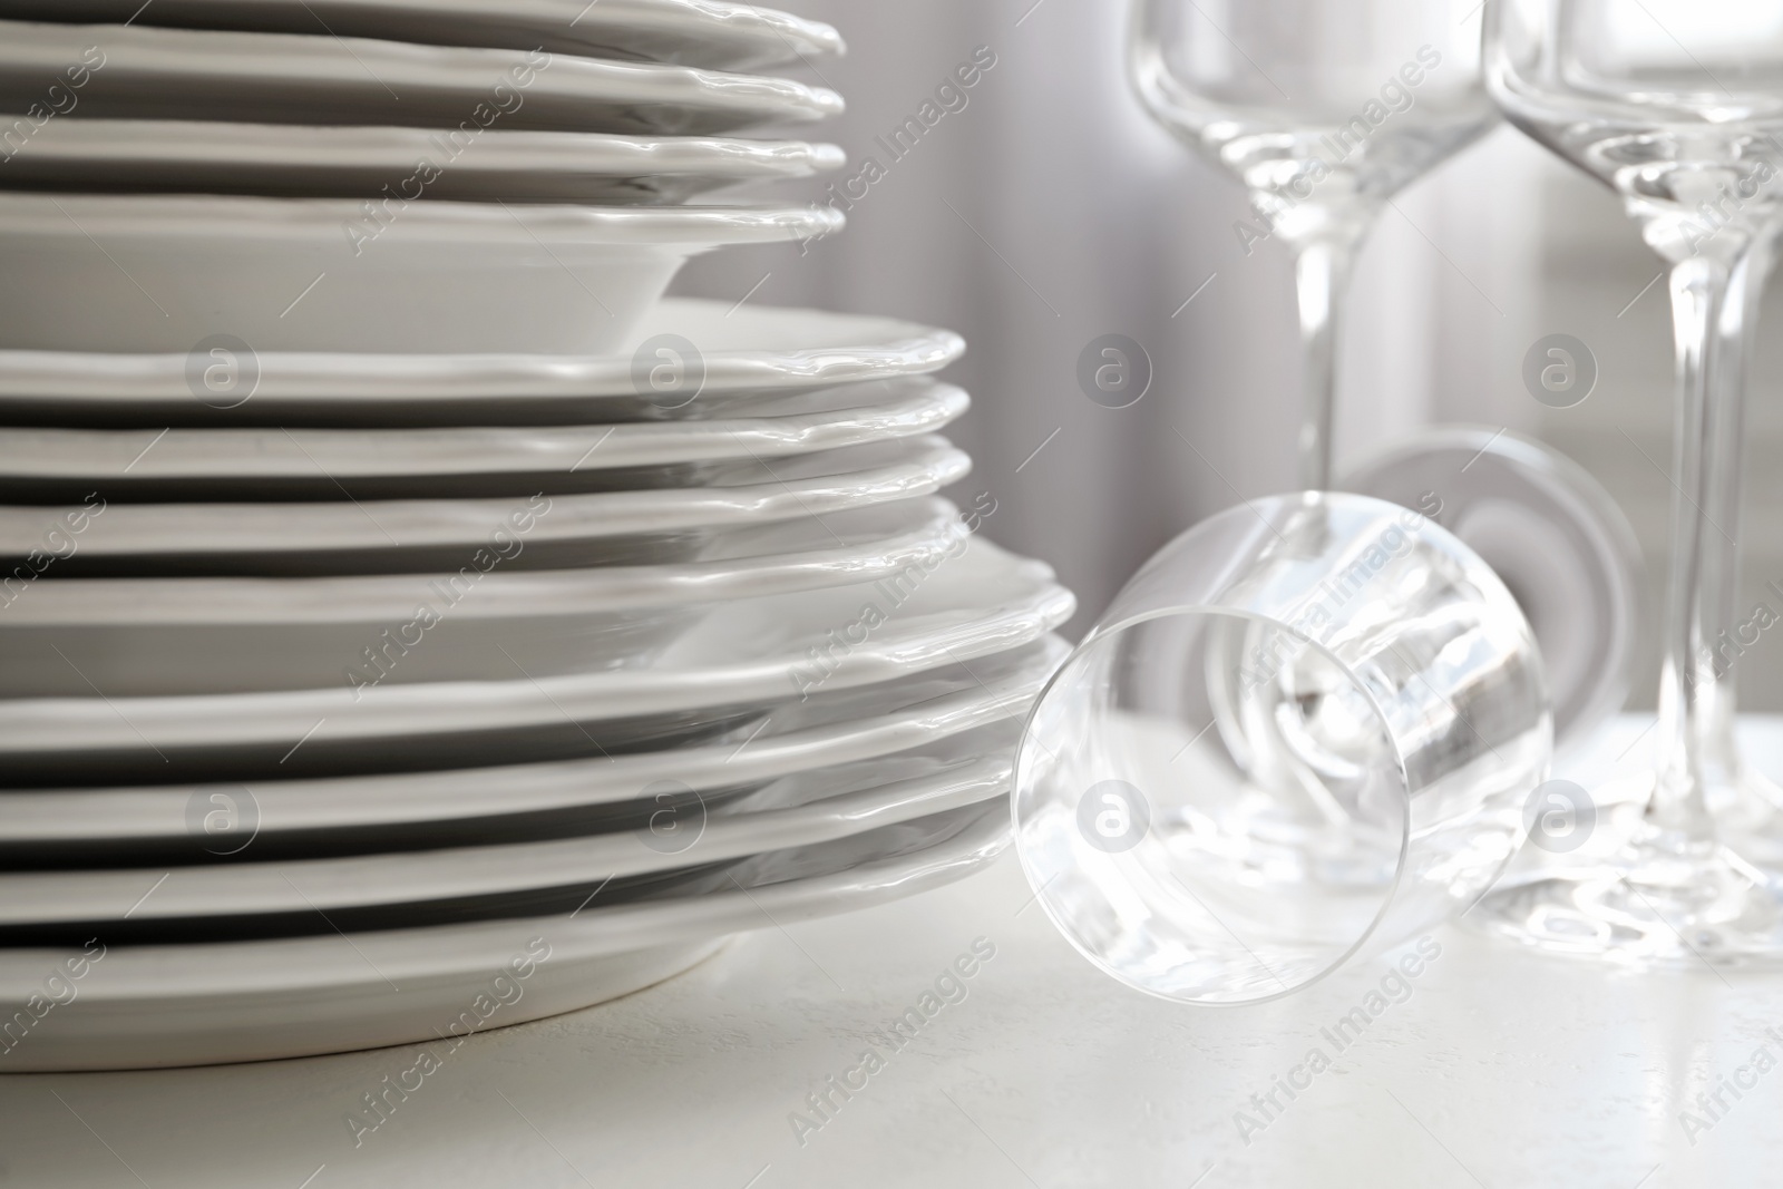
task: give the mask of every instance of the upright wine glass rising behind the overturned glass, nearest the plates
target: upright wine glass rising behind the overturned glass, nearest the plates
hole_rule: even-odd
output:
[[[1332,487],[1344,282],[1385,201],[1498,123],[1476,0],[1136,0],[1129,68],[1146,109],[1234,173],[1296,260],[1300,485]]]

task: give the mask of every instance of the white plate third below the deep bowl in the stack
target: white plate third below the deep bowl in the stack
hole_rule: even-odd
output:
[[[94,492],[66,508],[0,506],[0,563],[30,581],[685,562],[719,531],[931,496],[970,465],[945,439],[920,437],[731,463],[703,487],[585,496],[112,504]]]

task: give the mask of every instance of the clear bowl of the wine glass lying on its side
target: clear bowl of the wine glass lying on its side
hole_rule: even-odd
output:
[[[1535,638],[1478,554],[1382,499],[1271,496],[1166,545],[1047,685],[1015,845],[1104,972],[1250,1004],[1466,911],[1551,749]]]

